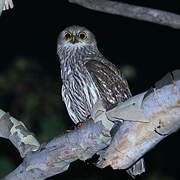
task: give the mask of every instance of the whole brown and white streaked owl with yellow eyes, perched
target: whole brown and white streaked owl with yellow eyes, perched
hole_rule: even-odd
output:
[[[70,26],[58,37],[57,53],[63,81],[62,97],[72,121],[87,120],[101,99],[108,109],[131,96],[119,69],[99,52],[95,36],[85,27]],[[134,165],[143,172],[143,160]]]

